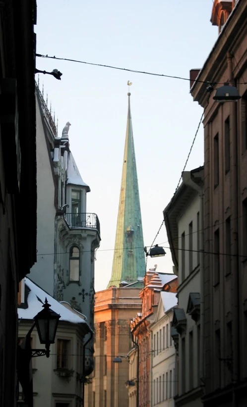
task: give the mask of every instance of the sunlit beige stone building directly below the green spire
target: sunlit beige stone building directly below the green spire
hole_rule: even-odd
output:
[[[126,407],[127,354],[132,347],[130,320],[141,309],[140,288],[109,288],[95,298],[95,370],[85,386],[85,407]],[[122,363],[114,363],[115,356]]]

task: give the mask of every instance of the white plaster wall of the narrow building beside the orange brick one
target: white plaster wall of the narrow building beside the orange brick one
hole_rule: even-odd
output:
[[[151,406],[160,406],[160,407],[174,407],[175,402],[173,397],[175,396],[175,363],[176,363],[176,356],[175,356],[175,347],[174,342],[172,341],[172,346],[170,345],[170,323],[173,320],[173,311],[168,311],[168,313],[164,313],[164,316],[160,318],[155,324],[152,325],[152,351],[154,349],[157,350],[157,342],[156,346],[154,347],[154,335],[155,340],[157,341],[157,333],[160,330],[162,332],[162,351],[158,353],[158,355],[152,352],[152,383],[151,383]],[[168,324],[169,332],[168,332],[168,344],[169,346],[166,347],[166,340],[165,340],[165,349],[163,349],[163,327],[166,327]],[[165,333],[166,335],[166,333]],[[170,370],[172,370],[172,397],[170,397]],[[166,396],[166,372],[168,372],[168,398]],[[162,396],[163,396],[163,386],[165,386],[165,400],[157,403],[157,390],[156,390],[156,379],[161,376],[161,380],[163,381],[163,374],[165,375],[165,383],[162,383]],[[155,381],[155,393],[156,397],[154,397],[154,381]]]

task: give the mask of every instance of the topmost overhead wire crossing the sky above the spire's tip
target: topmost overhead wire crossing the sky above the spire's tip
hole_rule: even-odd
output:
[[[181,77],[181,76],[173,76],[173,75],[165,75],[165,74],[162,74],[162,73],[153,73],[153,72],[138,71],[138,70],[136,70],[136,69],[120,68],[120,67],[112,66],[112,65],[104,65],[104,64],[101,64],[101,63],[93,63],[93,62],[79,61],[79,60],[77,60],[77,59],[59,58],[59,57],[57,57],[57,56],[55,56],[55,55],[54,55],[54,56],[50,56],[50,55],[43,55],[43,54],[40,54],[40,53],[36,53],[36,56],[38,56],[38,57],[40,57],[40,58],[58,59],[58,60],[61,60],[61,61],[77,62],[77,63],[86,64],[86,65],[94,65],[94,66],[102,66],[102,67],[104,67],[104,68],[118,69],[118,70],[121,70],[121,71],[127,71],[127,72],[133,72],[133,73],[142,73],[142,74],[145,74],[145,75],[152,75],[152,76],[163,76],[163,77],[165,77],[165,78],[173,78],[173,79],[181,79],[181,80],[183,80],[183,81],[190,81],[189,78],[183,78],[183,77]],[[196,80],[196,79],[195,79],[193,82],[200,82],[200,83],[210,84],[209,81],[199,81],[199,80]],[[216,85],[217,85],[217,84],[218,84],[218,85],[224,85],[223,82],[214,82],[214,84],[216,84]]]

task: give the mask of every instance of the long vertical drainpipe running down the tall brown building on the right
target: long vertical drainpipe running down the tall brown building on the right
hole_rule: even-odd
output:
[[[233,77],[233,61],[230,52],[227,53],[228,78],[230,85],[235,86]],[[232,184],[232,217],[231,217],[231,240],[232,240],[232,310],[233,310],[233,407],[237,407],[235,400],[234,385],[239,380],[239,250],[238,250],[238,132],[237,132],[237,103],[230,103],[231,117],[231,184]]]

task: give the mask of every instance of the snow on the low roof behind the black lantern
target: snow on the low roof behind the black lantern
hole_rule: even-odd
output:
[[[88,326],[88,330],[91,331],[91,328],[79,312],[77,313],[75,311],[75,313],[70,311],[27,277],[25,277],[25,285],[30,290],[27,297],[28,307],[26,309],[17,309],[19,319],[33,319],[34,316],[43,309],[42,303],[45,303],[45,299],[47,298],[48,303],[51,305],[51,309],[61,315],[60,321],[67,321],[74,324],[86,324]]]

